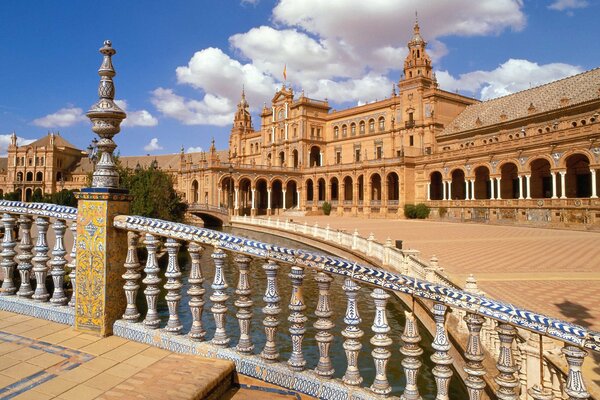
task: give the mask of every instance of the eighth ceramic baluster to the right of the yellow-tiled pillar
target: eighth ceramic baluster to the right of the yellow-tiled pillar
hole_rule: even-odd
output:
[[[290,336],[292,338],[292,354],[288,360],[288,366],[292,371],[302,371],[306,366],[306,360],[302,354],[302,340],[306,333],[304,324],[308,320],[304,315],[306,304],[304,303],[304,295],[302,290],[302,282],[304,280],[304,268],[292,266],[288,275],[292,281],[292,295],[290,297]]]

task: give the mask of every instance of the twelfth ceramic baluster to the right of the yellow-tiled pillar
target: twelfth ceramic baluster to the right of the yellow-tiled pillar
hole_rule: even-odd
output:
[[[400,352],[404,355],[402,367],[404,368],[404,374],[406,375],[406,387],[404,388],[404,393],[400,399],[421,400],[419,388],[417,387],[419,368],[421,368],[422,365],[419,357],[423,354],[423,349],[419,347],[421,335],[419,335],[419,326],[417,325],[415,315],[409,311],[405,311],[404,315],[406,316],[406,324],[404,325],[404,332],[401,336],[404,344],[400,348]]]

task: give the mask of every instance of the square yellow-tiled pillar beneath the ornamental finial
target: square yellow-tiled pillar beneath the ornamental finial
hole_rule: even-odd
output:
[[[82,189],[77,195],[77,284],[75,329],[96,336],[112,334],[125,311],[123,292],[127,232],[113,219],[128,214],[131,196],[119,189]]]

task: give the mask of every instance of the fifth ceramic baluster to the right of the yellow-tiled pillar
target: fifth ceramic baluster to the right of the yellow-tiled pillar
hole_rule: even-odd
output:
[[[215,335],[213,336],[212,343],[220,347],[226,347],[230,340],[225,330],[225,314],[227,313],[225,302],[229,299],[229,295],[225,292],[225,289],[229,286],[225,281],[223,265],[225,264],[225,257],[227,255],[223,250],[215,247],[215,251],[211,254],[211,257],[215,263],[215,277],[211,285],[213,294],[210,296],[210,300],[213,302],[210,311],[215,319]]]

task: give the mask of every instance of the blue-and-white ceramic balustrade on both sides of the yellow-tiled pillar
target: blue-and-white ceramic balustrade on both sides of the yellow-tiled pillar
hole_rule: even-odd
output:
[[[4,272],[0,306],[6,309],[8,303],[5,299],[22,297],[22,304],[48,302],[48,307],[64,308],[72,313],[73,310],[66,306],[69,299],[68,291],[64,290],[64,281],[67,272],[73,272],[67,270],[67,265],[75,265],[75,261],[71,259],[67,263],[64,235],[67,222],[75,219],[75,212],[69,208],[59,211],[56,206],[44,209],[16,202],[1,202],[0,211],[4,213],[2,224],[5,228],[0,253]],[[52,229],[56,236],[50,254],[46,240],[49,218],[54,220]],[[19,243],[12,234],[17,221],[22,224]],[[30,233],[33,223],[38,232],[35,240]],[[460,290],[435,280],[388,272],[333,256],[138,216],[119,215],[114,218],[113,225],[127,231],[127,257],[123,265],[123,296],[127,304],[123,308],[122,319],[114,324],[113,331],[117,335],[171,350],[231,359],[241,374],[319,398],[366,399],[387,396],[395,383],[390,381],[389,360],[392,353],[399,352],[403,355],[402,368],[406,382],[401,398],[420,399],[418,382],[423,379],[423,348],[426,345],[414,311],[406,311],[401,342],[393,340],[387,305],[390,296],[397,293],[428,305],[433,315],[435,336],[431,345],[431,373],[435,378],[436,399],[449,399],[448,385],[455,373],[451,368],[454,365],[451,356],[453,351],[462,351],[467,360],[462,369],[470,399],[525,398],[526,389],[529,389],[529,396],[533,399],[589,398],[581,365],[590,351],[600,351],[600,333],[489,299],[476,293],[473,282],[467,290]],[[308,232],[312,228],[300,226],[300,229]],[[400,271],[410,272],[413,268],[406,256],[398,258],[390,251],[390,243],[381,245],[373,237],[364,239],[357,234],[344,237],[327,229],[318,233],[330,241],[352,243],[353,249],[363,249],[372,255],[383,253],[377,256],[381,257],[382,262],[399,260]],[[147,251],[143,263],[138,259],[140,244]],[[165,250],[167,257],[164,271],[158,264],[161,249]],[[183,249],[191,259],[190,268],[185,271],[179,265],[178,257]],[[200,256],[205,251],[211,251],[212,266],[201,263]],[[238,279],[234,290],[230,289],[233,282],[227,282],[225,273],[225,260],[228,257],[234,260],[237,269]],[[250,270],[250,261],[253,259],[262,262],[265,282],[257,282],[259,275]],[[439,272],[434,271],[435,264],[435,261],[427,264],[422,274],[429,278],[433,272]],[[204,276],[208,268],[214,273],[211,284],[205,285]],[[20,277],[24,277],[19,287],[14,279],[17,271]],[[32,274],[36,282],[45,282],[50,274],[54,283],[52,293],[45,285],[35,285],[34,290]],[[68,276],[71,277],[71,274]],[[318,287],[318,299],[313,310],[307,309],[303,295],[303,287],[309,276],[313,277]],[[282,280],[288,279],[292,286],[289,301],[281,297],[279,290]],[[345,310],[331,306],[332,285],[340,285],[345,293]],[[256,298],[252,297],[258,286],[264,288],[261,304],[255,304]],[[369,294],[371,304],[358,304],[357,295],[361,291]],[[184,293],[188,298],[187,304],[182,304]],[[145,304],[142,307],[136,301],[138,294],[143,295]],[[158,309],[163,299],[167,305],[166,313]],[[208,301],[210,308],[205,307]],[[76,304],[76,308],[81,306],[84,305]],[[256,306],[262,306],[262,315],[255,315]],[[362,307],[374,309],[372,321],[369,321],[370,332],[363,331],[359,325],[359,309]],[[343,326],[336,326],[334,316],[340,313],[343,315]],[[190,326],[184,327],[184,314],[191,317]],[[202,318],[203,314],[210,314],[210,324],[203,325],[203,321],[206,321],[206,318]],[[449,314],[461,314],[464,321],[465,340],[456,348],[452,344],[455,342],[449,340]],[[236,321],[237,329],[231,328],[232,320]],[[289,322],[287,335],[280,332],[284,320]],[[264,341],[256,346],[249,332],[251,326],[260,325],[264,331]],[[309,326],[315,332],[310,343],[318,348],[318,358],[311,363],[307,362],[306,349]],[[539,376],[537,382],[523,382],[518,373],[519,364],[523,363],[520,359],[523,352],[516,352],[517,329],[530,333],[529,342],[525,345],[531,348],[535,348],[535,339],[542,337],[562,344],[563,362],[568,366],[562,385],[555,387],[549,384],[548,374]],[[287,337],[289,339],[285,340],[290,343],[282,343],[282,338]],[[346,362],[344,374],[338,379],[334,378],[331,346],[340,341],[343,341]],[[370,354],[361,352],[366,341],[372,346]],[[493,344],[495,350],[486,353],[484,341]],[[282,351],[284,347],[291,348],[286,359],[282,357],[282,354],[287,354]],[[490,367],[489,361],[486,362],[490,354],[495,358],[495,369]],[[374,379],[369,381],[364,379],[358,362],[365,357],[370,358],[375,371]],[[308,371],[308,365],[314,369]],[[489,385],[491,380],[488,377],[493,377],[493,387]]]

